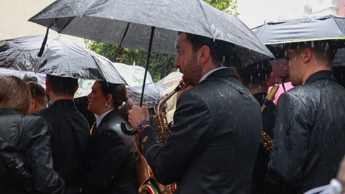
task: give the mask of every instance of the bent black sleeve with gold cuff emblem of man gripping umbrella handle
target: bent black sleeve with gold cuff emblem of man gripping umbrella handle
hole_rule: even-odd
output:
[[[177,100],[174,125],[164,147],[146,127],[139,145],[155,178],[161,184],[177,182],[188,165],[212,138],[213,114],[207,101],[194,90],[186,90]]]

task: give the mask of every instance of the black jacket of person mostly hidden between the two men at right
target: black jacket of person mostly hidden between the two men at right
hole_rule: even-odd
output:
[[[262,106],[267,96],[266,92],[253,94],[255,99]],[[273,128],[276,119],[276,105],[271,102],[262,114],[263,131],[273,139]],[[256,155],[253,177],[252,177],[252,194],[264,194],[264,182],[270,159],[269,151],[262,145],[259,145],[258,153]]]

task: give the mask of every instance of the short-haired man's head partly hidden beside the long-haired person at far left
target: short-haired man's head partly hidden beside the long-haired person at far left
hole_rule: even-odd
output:
[[[33,113],[36,113],[37,111],[45,108],[46,105],[46,90],[41,86],[41,84],[29,81],[28,86],[31,91],[31,107],[29,111],[29,115],[32,115]]]

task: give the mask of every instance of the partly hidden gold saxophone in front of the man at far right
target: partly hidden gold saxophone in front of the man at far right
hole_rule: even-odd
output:
[[[271,90],[269,90],[269,92],[265,98],[264,105],[262,105],[262,107],[261,107],[261,113],[263,113],[264,109],[267,107],[267,105],[275,99],[275,95],[278,91],[278,88],[279,88],[279,85],[275,84],[275,85],[273,85]],[[271,154],[272,146],[273,146],[273,140],[265,132],[261,132],[260,143],[262,145],[264,145],[264,147],[266,149],[268,149],[269,154]]]

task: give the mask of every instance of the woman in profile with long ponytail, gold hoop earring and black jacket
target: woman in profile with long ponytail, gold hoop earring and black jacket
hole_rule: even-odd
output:
[[[95,81],[88,95],[92,113],[99,115],[91,129],[87,172],[66,193],[133,194],[148,177],[147,163],[139,153],[139,136],[127,136],[121,122],[128,122],[134,106],[124,84]]]

